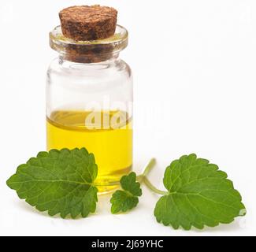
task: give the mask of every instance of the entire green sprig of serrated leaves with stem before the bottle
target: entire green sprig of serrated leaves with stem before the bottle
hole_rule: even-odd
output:
[[[232,181],[208,160],[191,154],[173,161],[165,170],[166,191],[158,190],[147,179],[154,163],[151,160],[139,177],[132,172],[121,178],[122,190],[116,191],[110,200],[112,213],[125,213],[138,205],[142,195],[139,180],[162,195],[154,209],[157,221],[175,229],[215,227],[246,214]],[[59,213],[63,218],[87,217],[95,213],[98,202],[97,175],[95,157],[85,148],[50,150],[20,165],[7,185],[28,204],[50,216]]]

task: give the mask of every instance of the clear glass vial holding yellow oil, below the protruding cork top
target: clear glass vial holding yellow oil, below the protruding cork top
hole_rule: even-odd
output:
[[[85,147],[95,154],[99,191],[113,189],[132,170],[132,72],[119,58],[128,31],[77,42],[61,27],[50,32],[58,51],[46,83],[47,150]]]

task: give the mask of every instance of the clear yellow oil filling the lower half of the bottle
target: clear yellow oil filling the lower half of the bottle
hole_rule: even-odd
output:
[[[55,111],[46,118],[47,150],[85,147],[95,154],[99,191],[132,170],[132,119],[121,111]]]

